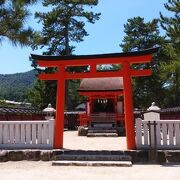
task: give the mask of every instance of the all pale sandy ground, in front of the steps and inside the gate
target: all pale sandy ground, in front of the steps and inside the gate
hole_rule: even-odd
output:
[[[77,131],[64,133],[65,149],[125,150],[125,137],[87,138]],[[0,163],[0,180],[180,180],[179,165],[133,165],[132,167],[52,166],[52,162]]]

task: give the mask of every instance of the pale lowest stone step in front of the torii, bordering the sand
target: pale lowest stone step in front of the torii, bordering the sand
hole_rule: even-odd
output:
[[[131,167],[131,161],[53,161],[53,166],[116,166]]]

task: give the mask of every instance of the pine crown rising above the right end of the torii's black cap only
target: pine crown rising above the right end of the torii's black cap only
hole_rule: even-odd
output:
[[[134,17],[128,19],[124,25],[125,36],[120,45],[123,52],[139,51],[159,46],[163,41],[160,37],[158,20],[153,19],[145,23],[144,18]]]

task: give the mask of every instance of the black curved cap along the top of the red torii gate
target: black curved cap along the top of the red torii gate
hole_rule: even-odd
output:
[[[142,51],[132,51],[132,52],[123,52],[123,53],[109,53],[109,54],[94,54],[94,55],[70,55],[70,56],[50,56],[50,55],[36,55],[31,54],[31,57],[34,60],[72,60],[72,59],[98,59],[98,58],[112,58],[112,57],[133,57],[133,56],[142,56],[142,55],[148,55],[153,54],[157,52],[159,47],[156,48],[150,48],[145,49]]]

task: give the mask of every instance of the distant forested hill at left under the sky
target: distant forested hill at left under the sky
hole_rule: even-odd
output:
[[[24,101],[27,90],[34,80],[34,70],[25,73],[0,74],[0,99]]]

